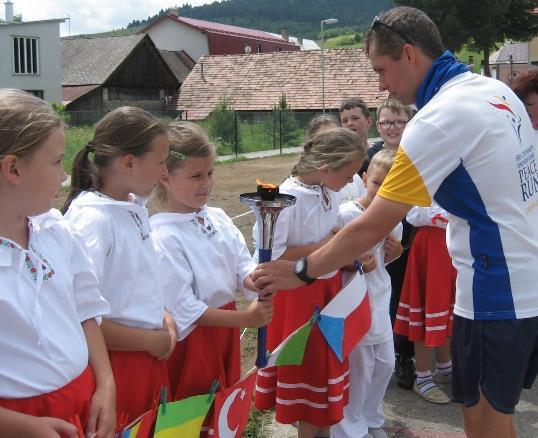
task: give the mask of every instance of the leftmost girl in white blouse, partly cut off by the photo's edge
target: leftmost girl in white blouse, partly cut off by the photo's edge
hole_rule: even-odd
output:
[[[0,435],[112,437],[109,310],[82,240],[53,201],[64,126],[47,103],[0,90]],[[39,215],[39,216],[38,216]]]

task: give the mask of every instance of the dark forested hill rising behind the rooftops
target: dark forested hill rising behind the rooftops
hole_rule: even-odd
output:
[[[175,9],[184,17],[275,33],[288,29],[292,35],[317,39],[320,21],[325,18],[338,18],[338,24],[331,27],[364,29],[376,14],[392,5],[392,0],[223,0],[196,7],[171,5],[146,20],[134,20],[127,27],[144,26]]]

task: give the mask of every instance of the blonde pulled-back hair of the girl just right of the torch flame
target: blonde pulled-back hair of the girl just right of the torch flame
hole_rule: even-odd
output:
[[[338,170],[354,160],[364,160],[364,151],[363,141],[355,132],[346,128],[329,129],[303,145],[303,153],[291,174],[304,175],[324,166]]]

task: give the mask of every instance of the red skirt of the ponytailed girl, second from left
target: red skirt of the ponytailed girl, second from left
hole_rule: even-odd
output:
[[[170,386],[166,361],[144,351],[108,353],[116,381],[117,424],[125,426],[157,406],[161,388]]]

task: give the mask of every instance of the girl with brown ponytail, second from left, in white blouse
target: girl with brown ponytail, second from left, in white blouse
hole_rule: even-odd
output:
[[[133,196],[149,196],[166,173],[167,130],[139,108],[108,113],[75,157],[63,208],[84,237],[101,291],[110,302],[102,329],[116,379],[116,414],[127,422],[151,409],[161,387],[168,386],[164,359],[176,344],[148,215],[132,202]]]

